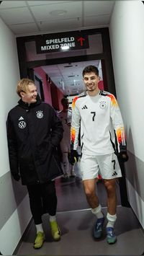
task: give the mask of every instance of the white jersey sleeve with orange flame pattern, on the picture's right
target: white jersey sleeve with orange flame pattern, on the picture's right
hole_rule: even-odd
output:
[[[117,140],[117,151],[118,153],[125,152],[127,151],[127,144],[120,107],[114,95],[110,94],[109,97],[111,98],[111,118]]]

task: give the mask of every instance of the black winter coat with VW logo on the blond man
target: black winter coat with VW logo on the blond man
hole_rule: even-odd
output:
[[[20,173],[22,185],[48,182],[63,174],[57,151],[63,125],[39,97],[30,105],[18,103],[6,122],[12,175]]]

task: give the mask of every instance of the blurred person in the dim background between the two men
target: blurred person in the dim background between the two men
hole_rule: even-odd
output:
[[[63,138],[60,141],[60,150],[63,156],[63,172],[64,178],[68,178],[69,176],[74,177],[74,165],[68,162],[68,154],[71,151],[71,118],[72,111],[68,108],[69,102],[68,99],[63,98],[61,100],[61,104],[63,105],[63,110],[58,113],[58,117],[60,118],[63,124]]]

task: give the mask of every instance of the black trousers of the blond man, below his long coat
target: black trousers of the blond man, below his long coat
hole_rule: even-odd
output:
[[[30,198],[30,210],[35,224],[42,223],[42,214],[49,213],[55,216],[57,208],[57,196],[55,182],[45,184],[27,185]]]

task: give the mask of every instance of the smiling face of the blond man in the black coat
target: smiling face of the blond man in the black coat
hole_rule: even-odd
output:
[[[37,87],[35,84],[28,84],[25,92],[20,92],[22,101],[28,104],[35,103],[37,101]]]

